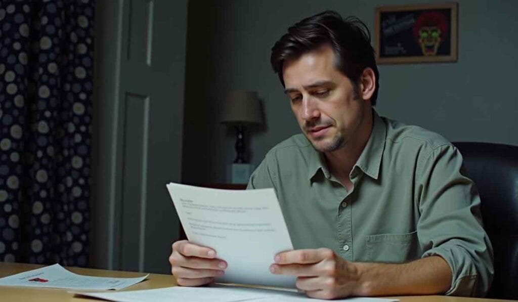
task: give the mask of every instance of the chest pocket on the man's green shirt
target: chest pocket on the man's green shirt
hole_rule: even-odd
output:
[[[420,258],[418,232],[380,234],[366,238],[370,262],[402,263]]]

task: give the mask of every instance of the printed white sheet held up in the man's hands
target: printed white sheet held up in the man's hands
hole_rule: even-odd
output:
[[[295,287],[295,277],[271,274],[276,253],[293,250],[274,189],[220,190],[169,183],[185,234],[228,263],[216,282]]]

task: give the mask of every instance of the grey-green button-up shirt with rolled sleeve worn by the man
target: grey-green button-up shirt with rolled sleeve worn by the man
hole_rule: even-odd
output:
[[[447,294],[484,296],[493,250],[479,195],[461,167],[461,154],[442,136],[373,111],[350,192],[302,134],[266,154],[248,189],[275,189],[295,249],[327,247],[354,262],[440,255],[453,274]]]

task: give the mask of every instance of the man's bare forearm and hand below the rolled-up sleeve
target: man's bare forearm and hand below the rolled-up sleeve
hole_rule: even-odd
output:
[[[363,263],[327,248],[278,253],[270,271],[296,276],[298,289],[320,299],[442,294],[452,282],[450,266],[437,255],[401,264]]]

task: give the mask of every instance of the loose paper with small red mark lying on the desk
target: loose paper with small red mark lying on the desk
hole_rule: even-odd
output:
[[[59,264],[41,267],[0,278],[0,285],[55,287],[76,290],[120,290],[149,276],[138,278],[93,277],[74,274]]]

